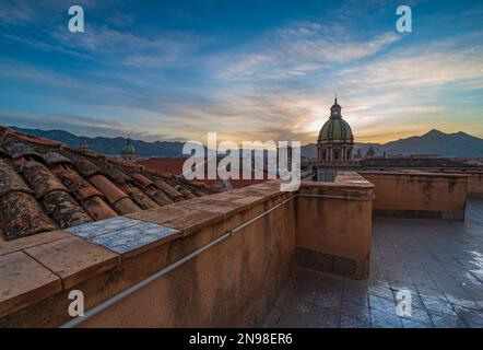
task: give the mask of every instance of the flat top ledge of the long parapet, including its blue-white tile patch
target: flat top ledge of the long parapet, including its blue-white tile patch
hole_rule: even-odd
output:
[[[26,318],[19,315],[43,314],[40,308],[56,303],[66,305],[58,318],[68,319],[68,291],[80,288],[95,292],[96,298],[86,301],[89,308],[231,230],[228,225],[243,223],[296,194],[354,196],[374,187],[355,173],[341,173],[334,183],[302,183],[297,192],[281,191],[281,183],[267,182],[64,231],[0,242],[0,326],[26,326]],[[197,233],[207,228],[215,230],[197,238]],[[151,261],[160,248],[174,241],[180,242],[170,245],[177,252],[158,256],[153,264],[140,264]],[[113,279],[116,283],[110,289],[98,285],[99,281]],[[32,318],[31,322],[36,324]]]

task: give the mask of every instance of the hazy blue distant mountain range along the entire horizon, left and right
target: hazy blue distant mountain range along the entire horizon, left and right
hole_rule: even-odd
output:
[[[126,138],[89,138],[79,137],[63,130],[39,130],[11,127],[21,132],[60,141],[72,148],[80,148],[84,140],[89,147],[97,153],[119,155],[126,144]],[[138,156],[182,156],[182,142],[155,141],[145,142],[132,140]],[[483,158],[483,139],[470,136],[464,132],[445,133],[438,130],[431,130],[423,136],[413,136],[388,143],[355,143],[355,152],[361,150],[365,155],[369,147],[373,147],[376,155],[410,155],[410,154],[437,154],[449,158]],[[354,152],[354,154],[355,154]],[[315,143],[302,147],[302,154],[307,158],[317,156]]]

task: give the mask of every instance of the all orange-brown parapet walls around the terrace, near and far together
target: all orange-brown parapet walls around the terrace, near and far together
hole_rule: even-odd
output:
[[[71,290],[89,312],[165,269],[80,327],[260,326],[296,262],[368,276],[373,205],[377,214],[464,218],[466,175],[361,175],[296,192],[267,182],[130,214],[177,231],[122,253],[64,231],[0,242],[0,327],[60,326],[72,319]]]

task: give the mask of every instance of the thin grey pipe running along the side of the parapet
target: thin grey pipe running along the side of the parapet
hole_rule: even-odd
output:
[[[175,270],[176,268],[178,268],[179,266],[184,265],[185,262],[188,262],[189,260],[191,260],[192,258],[197,257],[198,255],[200,255],[201,253],[203,253],[204,250],[211,248],[212,246],[219,244],[220,242],[234,236],[238,231],[245,229],[246,226],[248,226],[249,224],[258,221],[259,219],[266,217],[267,214],[269,214],[270,212],[272,212],[273,210],[282,207],[283,205],[287,203],[288,201],[293,200],[294,198],[297,197],[309,197],[309,198],[327,198],[327,199],[340,199],[340,200],[355,200],[355,201],[368,201],[368,200],[373,200],[374,199],[374,195],[373,196],[367,196],[367,197],[351,197],[351,196],[329,196],[329,195],[310,195],[310,194],[296,194],[283,201],[281,201],[280,203],[278,203],[276,206],[263,211],[262,213],[256,215],[255,218],[245,221],[244,223],[239,224],[238,226],[236,226],[235,229],[228,230],[226,231],[224,234],[222,234],[221,236],[219,236],[217,238],[211,241],[210,243],[201,246],[200,248],[196,249],[195,252],[184,256],[182,258],[180,258],[179,260],[173,262],[172,265],[168,265],[167,267],[165,267],[164,269],[157,271],[154,275],[151,275],[150,277],[139,281],[136,284],[132,284],[131,287],[129,287],[128,289],[123,290],[122,292],[109,298],[108,300],[102,302],[101,304],[94,306],[93,308],[89,310],[84,316],[78,316],[75,318],[72,318],[71,320],[64,323],[63,325],[60,326],[60,328],[73,328],[76,327],[79,325],[81,325],[82,323],[86,322],[87,319],[94,317],[95,315],[102,313],[103,311],[105,311],[106,308],[113,306],[114,304],[118,303],[119,301],[123,300],[126,296],[131,295],[132,293],[134,293],[136,291],[140,290],[141,288],[150,284],[151,282],[157,280],[158,278],[165,276],[166,273]]]

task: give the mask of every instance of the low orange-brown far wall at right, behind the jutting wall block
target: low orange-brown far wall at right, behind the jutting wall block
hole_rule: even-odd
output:
[[[375,185],[376,217],[464,220],[468,176],[423,172],[360,172]]]

